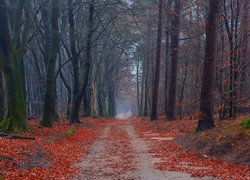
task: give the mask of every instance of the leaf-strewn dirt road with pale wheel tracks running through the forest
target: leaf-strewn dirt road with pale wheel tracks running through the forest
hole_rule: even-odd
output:
[[[160,160],[148,153],[149,144],[138,137],[131,120],[116,120],[101,130],[89,154],[76,166],[80,173],[74,179],[83,180],[189,180],[185,172],[154,169]],[[212,179],[204,177],[202,179]]]

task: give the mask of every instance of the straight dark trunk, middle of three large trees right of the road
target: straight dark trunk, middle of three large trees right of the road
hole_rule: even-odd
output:
[[[176,0],[175,3],[175,16],[172,20],[172,36],[171,36],[171,76],[170,87],[168,93],[168,110],[167,118],[174,120],[176,118],[176,84],[177,84],[177,62],[178,62],[178,49],[179,49],[179,26],[180,26],[180,10],[181,0]]]

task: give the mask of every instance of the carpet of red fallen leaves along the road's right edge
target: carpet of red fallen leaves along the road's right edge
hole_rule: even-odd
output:
[[[165,122],[158,123],[159,126],[171,126],[179,122]],[[190,124],[190,122],[187,121]],[[182,123],[183,124],[183,123]],[[155,142],[145,134],[150,131],[151,134],[158,134],[158,137],[176,137],[182,132],[176,129],[169,129],[167,131],[161,130],[153,126],[148,121],[143,119],[134,119],[133,126],[139,133],[139,136],[151,143],[149,152],[154,157],[160,158],[162,162],[155,163],[154,167],[158,170],[165,171],[180,171],[188,172],[195,177],[220,177],[222,179],[248,179],[250,177],[250,168],[244,166],[231,165],[221,160],[214,160],[209,157],[200,159],[198,154],[185,153],[181,147],[173,141]],[[187,125],[188,127],[188,125]],[[190,128],[190,125],[188,127]]]

